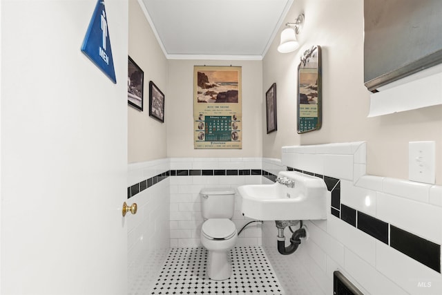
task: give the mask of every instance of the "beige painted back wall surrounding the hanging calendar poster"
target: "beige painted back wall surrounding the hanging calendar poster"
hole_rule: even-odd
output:
[[[242,149],[193,149],[193,66],[242,67]],[[262,156],[262,61],[169,60],[166,97],[167,156]]]

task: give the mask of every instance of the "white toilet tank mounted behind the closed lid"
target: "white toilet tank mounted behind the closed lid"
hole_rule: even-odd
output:
[[[235,190],[225,188],[204,188],[200,191],[202,218],[233,217],[235,210]]]

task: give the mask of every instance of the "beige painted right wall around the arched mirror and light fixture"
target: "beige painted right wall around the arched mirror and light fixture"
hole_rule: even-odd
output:
[[[302,12],[300,49],[278,53],[278,37],[263,60],[263,93],[276,82],[278,99],[278,131],[267,135],[262,129],[263,156],[280,158],[280,147],[286,145],[365,140],[367,173],[407,179],[408,142],[432,140],[436,142],[436,183],[442,184],[442,106],[367,118],[370,93],[363,85],[363,1],[296,1],[284,23]],[[314,44],[323,49],[323,128],[298,135],[296,70],[303,51]]]

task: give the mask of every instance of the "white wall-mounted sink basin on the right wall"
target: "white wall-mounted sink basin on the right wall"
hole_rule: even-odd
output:
[[[283,179],[281,183],[238,187],[244,216],[258,220],[327,218],[328,191],[323,179],[297,171],[281,171],[278,178]]]

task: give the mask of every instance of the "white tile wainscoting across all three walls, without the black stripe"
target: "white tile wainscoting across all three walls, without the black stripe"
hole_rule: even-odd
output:
[[[290,166],[339,178],[341,203],[441,244],[442,187],[365,175],[366,149],[365,142],[354,142],[286,146],[282,148],[282,161],[267,158],[155,160],[130,164],[128,187],[169,169],[262,169],[277,175]],[[140,273],[155,277],[166,257],[164,251],[169,247],[201,245],[200,189],[259,183],[271,183],[271,180],[259,175],[172,176],[133,196],[129,202],[137,202],[139,212],[128,218],[129,278],[136,280]],[[249,220],[240,214],[240,196],[237,194],[236,198],[233,222],[239,230]],[[442,294],[441,274],[330,213],[327,220],[305,221],[305,225],[309,229],[309,240],[303,240],[291,256],[278,254],[273,222],[249,225],[238,238],[238,245],[263,245],[289,294],[332,294],[332,276],[336,269],[364,294]]]

